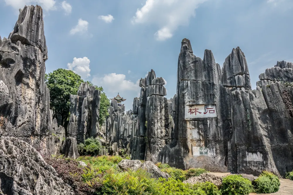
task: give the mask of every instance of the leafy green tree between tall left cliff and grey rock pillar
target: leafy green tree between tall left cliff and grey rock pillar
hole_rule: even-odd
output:
[[[58,68],[45,75],[45,83],[50,90],[50,107],[61,116],[61,124],[65,130],[69,122],[70,94],[76,95],[80,84],[84,82],[72,70]]]

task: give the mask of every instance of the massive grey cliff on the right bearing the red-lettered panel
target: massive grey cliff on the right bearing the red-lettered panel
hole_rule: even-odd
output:
[[[251,90],[239,47],[221,70],[211,51],[205,50],[202,60],[183,39],[177,94],[168,100],[172,142],[160,150],[159,161],[183,169],[285,175],[293,169],[292,67],[277,62]]]

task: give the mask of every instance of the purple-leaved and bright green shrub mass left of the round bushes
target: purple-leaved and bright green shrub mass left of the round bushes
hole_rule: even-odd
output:
[[[76,194],[219,195],[220,193],[210,182],[191,185],[177,180],[178,176],[154,179],[141,169],[123,172],[117,165],[122,159],[120,156],[81,156],[76,160],[63,156],[45,158],[64,182],[73,187]],[[82,168],[78,161],[85,162],[87,167]],[[160,167],[170,169],[166,164],[161,164]]]

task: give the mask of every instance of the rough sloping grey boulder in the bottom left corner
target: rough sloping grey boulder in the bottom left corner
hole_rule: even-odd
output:
[[[16,137],[0,138],[0,167],[4,194],[74,194],[40,153]]]

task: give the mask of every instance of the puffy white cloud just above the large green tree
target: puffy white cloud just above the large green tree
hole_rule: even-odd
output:
[[[87,57],[73,58],[73,62],[68,63],[67,67],[69,70],[73,70],[74,73],[80,75],[82,79],[91,76],[90,60]]]

